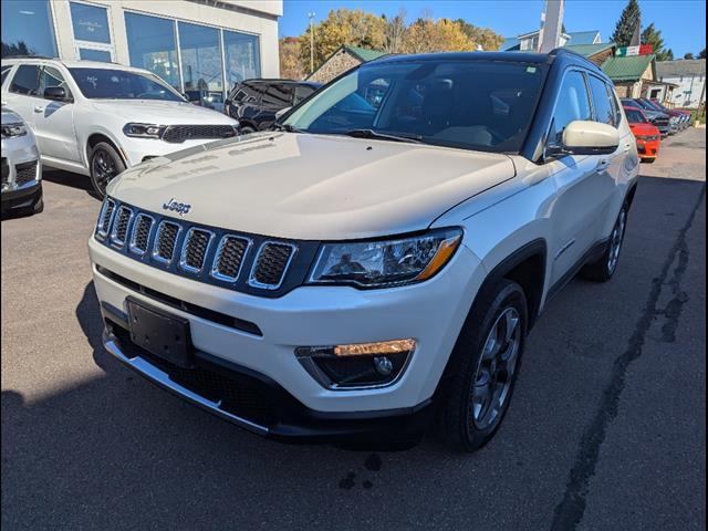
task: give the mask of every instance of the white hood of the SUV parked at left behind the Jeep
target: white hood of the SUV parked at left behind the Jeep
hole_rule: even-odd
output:
[[[187,102],[160,100],[100,100],[93,103],[96,111],[119,114],[128,121],[173,124],[236,124],[233,118],[210,108]]]

